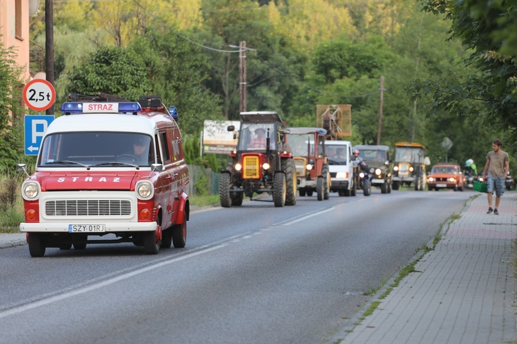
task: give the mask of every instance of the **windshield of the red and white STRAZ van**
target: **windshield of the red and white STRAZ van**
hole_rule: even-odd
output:
[[[150,166],[154,163],[152,147],[152,138],[142,133],[54,133],[41,144],[38,166]]]

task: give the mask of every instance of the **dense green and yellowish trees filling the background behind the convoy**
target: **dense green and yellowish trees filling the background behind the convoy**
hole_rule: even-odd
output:
[[[483,166],[491,140],[501,138],[513,166],[517,30],[508,6],[476,0],[54,3],[57,103],[70,93],[132,100],[160,94],[179,110],[187,160],[220,169],[220,156],[199,155],[199,133],[205,119],[238,118],[235,46],[245,41],[248,110],[277,111],[292,127],[314,126],[317,104],[351,104],[347,139],[376,144],[383,76],[381,144],[421,142],[432,163],[473,158]],[[42,46],[44,13],[31,19],[31,39]],[[13,82],[1,79],[0,90]],[[453,142],[449,151],[445,138]],[[16,142],[4,137],[1,151],[12,156]]]

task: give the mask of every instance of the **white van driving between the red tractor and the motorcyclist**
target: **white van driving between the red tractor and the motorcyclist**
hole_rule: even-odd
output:
[[[358,188],[359,168],[352,164],[352,143],[343,140],[326,140],[330,191],[340,196],[355,196]]]

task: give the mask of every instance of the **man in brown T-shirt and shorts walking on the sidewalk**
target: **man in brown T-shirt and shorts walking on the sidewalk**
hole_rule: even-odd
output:
[[[509,158],[505,151],[501,151],[503,142],[496,139],[492,142],[492,148],[494,151],[489,151],[487,154],[487,163],[485,169],[483,169],[483,180],[488,173],[487,179],[487,199],[488,199],[488,211],[487,214],[494,211],[494,214],[499,215],[497,210],[501,196],[505,193],[505,178],[508,174],[509,169]],[[496,208],[492,209],[492,195],[496,190]]]

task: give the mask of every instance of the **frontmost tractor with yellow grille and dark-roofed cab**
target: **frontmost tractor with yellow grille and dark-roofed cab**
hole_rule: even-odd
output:
[[[241,112],[241,129],[232,160],[221,171],[221,206],[241,206],[243,196],[272,195],[274,206],[296,204],[296,168],[286,129],[274,111]],[[230,125],[228,131],[234,131]]]

